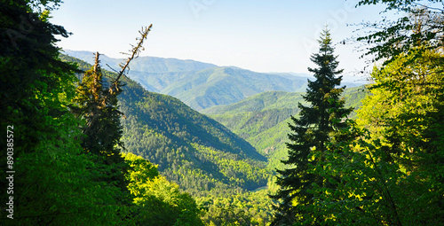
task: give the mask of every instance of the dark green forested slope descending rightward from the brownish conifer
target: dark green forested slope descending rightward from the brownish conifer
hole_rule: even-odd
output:
[[[91,68],[78,59],[61,58]],[[266,185],[271,174],[266,158],[248,142],[175,97],[148,92],[130,79],[125,82],[119,105],[125,115],[126,152],[157,164],[169,180],[194,194]]]

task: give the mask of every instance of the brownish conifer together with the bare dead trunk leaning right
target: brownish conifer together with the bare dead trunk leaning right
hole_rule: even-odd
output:
[[[99,64],[99,52],[95,54],[95,64],[91,70],[83,75],[82,82],[77,87],[75,105],[71,110],[75,115],[83,119],[83,136],[80,138],[84,152],[89,152],[97,158],[97,162],[103,164],[103,172],[98,175],[98,180],[115,184],[123,191],[123,203],[130,203],[128,194],[128,181],[125,174],[129,169],[128,164],[121,155],[124,149],[121,137],[123,126],[119,111],[117,96],[122,93],[123,82],[120,80],[129,69],[133,58],[139,56],[143,50],[143,41],[147,38],[152,25],[139,31],[141,38],[139,43],[132,46],[130,57],[127,59],[122,70],[115,78],[105,79]]]

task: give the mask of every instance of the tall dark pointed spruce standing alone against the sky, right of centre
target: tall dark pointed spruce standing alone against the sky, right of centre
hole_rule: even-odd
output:
[[[291,116],[293,124],[289,123],[292,133],[288,160],[282,163],[287,169],[277,170],[277,184],[280,189],[271,195],[272,199],[280,202],[275,208],[272,225],[293,225],[295,222],[310,224],[321,222],[320,216],[309,211],[307,206],[313,203],[313,187],[328,186],[320,175],[308,173],[310,168],[323,160],[322,153],[326,152],[326,144],[333,132],[345,126],[345,117],[353,111],[344,107],[344,100],[339,97],[345,87],[337,88],[342,81],[343,70],[337,70],[337,56],[333,55],[329,30],[321,33],[320,49],[314,53],[311,60],[317,68],[308,68],[314,74],[315,81],[308,81],[304,99],[309,106],[298,103],[301,109],[299,118]]]

